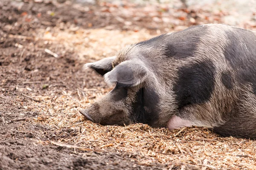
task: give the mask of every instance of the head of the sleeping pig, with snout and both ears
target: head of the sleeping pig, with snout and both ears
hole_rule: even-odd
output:
[[[108,84],[115,85],[105,97],[80,111],[84,117],[102,125],[140,122],[157,126],[159,97],[145,81],[149,72],[142,60],[120,62],[117,57],[108,57],[84,66],[101,74]]]

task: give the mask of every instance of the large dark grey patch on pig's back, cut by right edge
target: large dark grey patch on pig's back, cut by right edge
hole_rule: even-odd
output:
[[[241,28],[226,31],[229,40],[224,56],[236,72],[239,84],[250,83],[256,94],[256,36]]]

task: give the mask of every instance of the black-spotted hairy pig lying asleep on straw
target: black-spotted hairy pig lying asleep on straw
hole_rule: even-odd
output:
[[[207,127],[256,139],[256,33],[206,24],[87,63],[113,90],[80,110],[102,125]]]

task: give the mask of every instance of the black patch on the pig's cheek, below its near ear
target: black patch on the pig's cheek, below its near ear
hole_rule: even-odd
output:
[[[132,104],[135,122],[154,126],[159,119],[157,104],[159,97],[151,88],[141,88],[136,94],[136,102]]]

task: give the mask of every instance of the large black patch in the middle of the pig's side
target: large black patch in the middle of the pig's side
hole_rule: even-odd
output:
[[[173,91],[178,108],[204,103],[209,100],[215,86],[215,67],[211,60],[198,61],[179,68]]]

